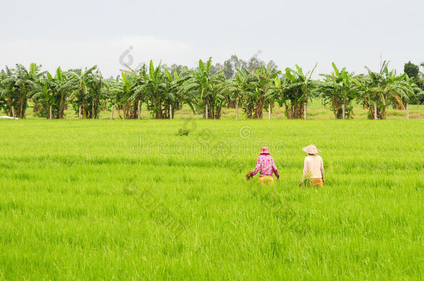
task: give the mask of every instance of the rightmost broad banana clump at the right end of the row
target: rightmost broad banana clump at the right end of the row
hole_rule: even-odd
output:
[[[407,79],[407,74],[396,75],[396,70],[389,71],[389,62],[384,61],[379,72],[371,71],[368,67],[368,77],[357,83],[361,87],[359,101],[368,109],[368,119],[386,118],[388,105],[405,108],[402,100],[409,100],[415,96],[414,85]],[[377,112],[375,112],[375,108]]]

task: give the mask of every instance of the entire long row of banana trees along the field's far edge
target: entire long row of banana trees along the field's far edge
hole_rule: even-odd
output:
[[[388,106],[404,109],[423,96],[413,79],[389,70],[388,62],[378,72],[366,68],[368,73],[359,75],[334,63],[332,67],[330,74],[320,74],[322,80],[311,78],[316,66],[304,72],[297,65],[279,71],[265,64],[238,68],[226,78],[222,69],[216,71],[211,58],[179,73],[150,61],[149,67],[127,67],[117,78],[105,79],[97,66],[69,71],[58,67],[50,74],[34,63],[29,69],[16,65],[0,72],[0,109],[24,118],[32,105],[40,117],[63,119],[71,106],[79,118],[95,119],[107,108],[122,119],[136,119],[144,104],[153,118],[172,119],[176,110],[188,105],[205,119],[220,119],[222,108],[228,107],[236,108],[236,118],[241,108],[247,118],[262,119],[264,110],[270,112],[279,105],[288,119],[300,119],[307,104],[320,97],[337,119],[352,118],[354,103],[366,108],[370,119],[384,119]]]

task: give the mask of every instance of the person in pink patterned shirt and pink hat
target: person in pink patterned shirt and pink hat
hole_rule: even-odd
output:
[[[274,178],[272,178],[272,173],[275,173],[275,176],[279,179],[279,174],[277,167],[275,166],[274,159],[268,151],[268,147],[263,146],[261,148],[261,153],[259,153],[258,159],[256,160],[256,167],[254,171],[247,173],[246,178],[249,180],[252,176],[256,175],[258,171],[261,171],[259,174],[259,182],[262,184],[273,185]]]

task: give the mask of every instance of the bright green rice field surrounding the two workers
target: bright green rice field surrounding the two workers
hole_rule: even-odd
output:
[[[0,120],[0,139],[0,280],[424,278],[422,120]],[[297,186],[311,143],[321,189]],[[273,187],[244,179],[262,144]]]

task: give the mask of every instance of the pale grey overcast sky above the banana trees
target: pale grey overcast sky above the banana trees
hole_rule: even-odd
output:
[[[316,73],[331,63],[377,70],[380,55],[403,72],[424,61],[424,1],[1,1],[0,68],[30,62],[44,70],[153,59],[194,67],[232,54]],[[259,53],[258,51],[261,50]]]

